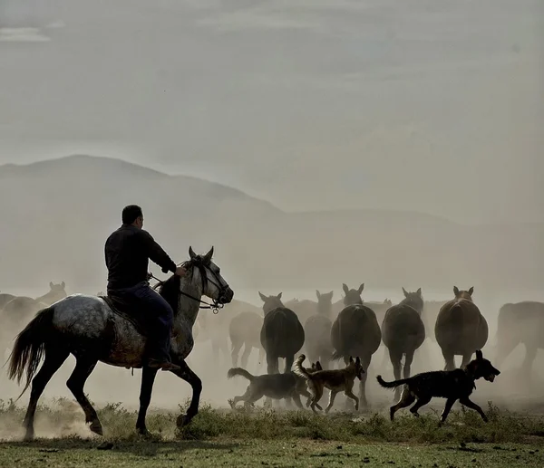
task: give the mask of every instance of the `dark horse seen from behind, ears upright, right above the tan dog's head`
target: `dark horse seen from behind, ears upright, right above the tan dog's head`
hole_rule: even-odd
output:
[[[345,283],[342,287],[345,293],[345,309],[338,314],[331,329],[331,343],[335,349],[333,359],[344,358],[347,365],[350,356],[361,358],[364,374],[359,383],[359,400],[361,406],[366,407],[367,370],[372,355],[382,341],[382,331],[374,310],[363,305],[361,293],[364,283],[357,290],[350,290]]]

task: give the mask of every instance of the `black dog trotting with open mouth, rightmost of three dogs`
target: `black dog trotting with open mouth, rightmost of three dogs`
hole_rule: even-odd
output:
[[[393,421],[394,414],[401,408],[413,404],[410,411],[418,416],[417,411],[422,406],[427,405],[433,396],[447,398],[446,406],[441,416],[441,423],[446,420],[453,404],[459,400],[461,405],[474,409],[480,413],[481,418],[487,423],[488,418],[481,410],[481,407],[471,401],[472,390],[476,388],[474,381],[478,378],[485,378],[489,382],[495,380],[495,376],[500,375],[498,369],[491,365],[488,359],[484,359],[481,351],[476,351],[476,358],[467,364],[466,368],[457,368],[454,370],[437,370],[434,372],[423,372],[410,378],[403,378],[393,382],[385,382],[382,376],[376,377],[379,384],[384,388],[395,388],[404,386],[403,394],[399,402],[391,406],[390,414]]]

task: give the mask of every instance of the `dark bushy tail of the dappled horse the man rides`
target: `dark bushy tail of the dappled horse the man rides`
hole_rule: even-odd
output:
[[[7,377],[10,380],[16,378],[17,383],[20,384],[26,369],[26,385],[17,400],[30,387],[38,365],[44,356],[45,344],[51,338],[53,331],[53,312],[53,307],[40,310],[15,339],[14,349],[9,357]]]

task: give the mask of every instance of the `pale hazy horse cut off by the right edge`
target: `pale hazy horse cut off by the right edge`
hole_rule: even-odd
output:
[[[525,345],[521,370],[524,377],[530,377],[537,352],[544,349],[544,303],[523,301],[504,304],[499,310],[496,341],[498,367],[520,343]]]

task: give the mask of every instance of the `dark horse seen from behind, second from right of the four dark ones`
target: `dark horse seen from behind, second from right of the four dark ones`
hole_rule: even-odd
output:
[[[395,380],[401,378],[401,360],[404,358],[403,378],[410,377],[413,353],[425,340],[425,327],[421,318],[423,310],[422,289],[408,292],[403,288],[404,299],[385,312],[382,339],[389,350]],[[401,396],[401,387],[395,388],[394,398]]]

